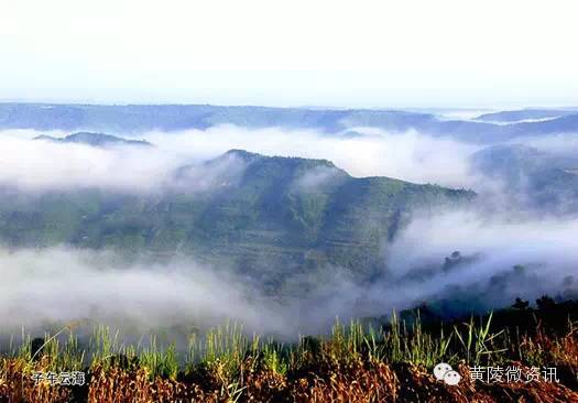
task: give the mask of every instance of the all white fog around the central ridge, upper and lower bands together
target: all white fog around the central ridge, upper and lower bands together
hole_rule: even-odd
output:
[[[316,279],[310,295],[299,301],[272,301],[262,294],[260,284],[248,284],[227,270],[190,259],[175,259],[163,265],[145,261],[126,264],[110,251],[64,246],[41,250],[2,248],[0,320],[9,331],[81,318],[129,320],[149,329],[183,324],[210,326],[228,317],[244,323],[250,330],[294,337],[324,331],[336,316],[380,316],[422,301],[451,298],[452,285],[483,291],[492,277],[511,272],[517,264],[526,268],[531,281],[508,280],[500,295],[488,295],[488,307],[509,304],[515,296],[554,295],[577,273],[578,218],[512,214],[517,208],[501,197],[504,185],[470,168],[469,157],[482,145],[415,131],[367,129],[342,135],[236,127],[151,132],[142,138],[155,146],[142,149],[31,140],[39,134],[68,133],[0,132],[2,185],[29,193],[76,187],[164,192],[178,185],[173,183],[177,167],[198,164],[230,149],[243,149],[265,155],[326,159],[353,176],[390,176],[473,188],[481,202],[470,210],[440,211],[433,218],[416,215],[389,246],[386,272],[375,283],[361,287],[339,268],[330,268],[327,279]],[[532,145],[571,154],[578,151],[577,139],[533,139]],[[210,172],[197,166],[200,184]],[[480,206],[483,204],[493,208]],[[411,275],[426,266],[440,268],[454,251],[476,258],[449,271]]]

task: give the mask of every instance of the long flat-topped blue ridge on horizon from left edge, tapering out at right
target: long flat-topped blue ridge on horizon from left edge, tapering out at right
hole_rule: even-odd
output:
[[[390,110],[221,107],[210,105],[48,105],[0,104],[0,128],[95,130],[112,133],[148,130],[207,129],[218,124],[246,128],[309,128],[340,131],[355,126],[405,127],[433,116]]]

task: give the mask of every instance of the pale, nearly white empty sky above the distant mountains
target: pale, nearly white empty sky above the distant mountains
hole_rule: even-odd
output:
[[[578,105],[578,2],[0,2],[0,100]]]

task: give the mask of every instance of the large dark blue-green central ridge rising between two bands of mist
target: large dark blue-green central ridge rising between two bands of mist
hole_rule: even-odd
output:
[[[292,287],[290,279],[330,266],[369,279],[383,270],[388,241],[413,213],[475,197],[388,177],[356,178],[325,160],[241,150],[183,166],[174,179],[154,194],[26,195],[4,188],[0,240],[10,247],[114,248],[160,259],[193,254],[279,291]]]

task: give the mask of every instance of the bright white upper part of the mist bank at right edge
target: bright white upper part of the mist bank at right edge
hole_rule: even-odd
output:
[[[578,252],[574,253],[578,240],[572,233],[578,233],[577,219],[515,220],[473,210],[416,217],[392,244],[389,268],[397,275],[405,274],[426,261],[443,262],[457,250],[502,259],[501,268],[494,270],[527,261],[548,263],[553,270],[568,269],[564,262],[578,263]],[[489,277],[492,273],[479,274]]]

